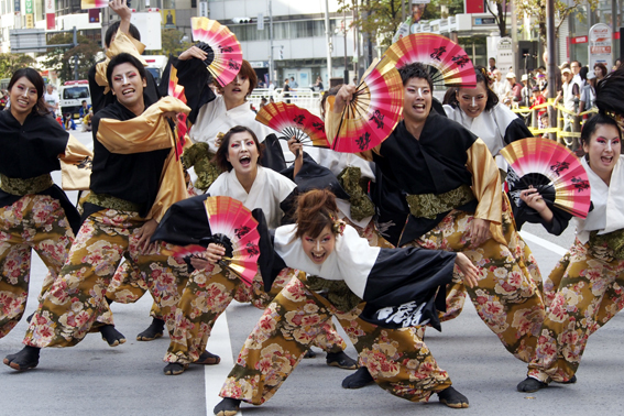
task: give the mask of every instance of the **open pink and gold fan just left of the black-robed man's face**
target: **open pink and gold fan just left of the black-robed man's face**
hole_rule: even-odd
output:
[[[384,57],[362,76],[342,111],[331,149],[346,153],[371,150],[390,136],[402,113],[403,81],[394,62]]]

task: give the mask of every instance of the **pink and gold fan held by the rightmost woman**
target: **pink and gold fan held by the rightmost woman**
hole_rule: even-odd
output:
[[[545,201],[587,217],[591,204],[588,174],[568,147],[549,139],[528,138],[506,145],[501,154],[513,169],[507,175],[513,199],[533,186]]]

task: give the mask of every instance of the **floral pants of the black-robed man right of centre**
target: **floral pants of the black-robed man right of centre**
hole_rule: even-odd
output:
[[[545,316],[539,286],[517,260],[519,245],[512,252],[507,245],[490,239],[475,250],[470,249],[464,234],[472,219],[467,212],[453,210],[431,231],[406,245],[462,252],[472,260],[480,269],[479,286],[464,289],[477,313],[507,351],[528,362]]]

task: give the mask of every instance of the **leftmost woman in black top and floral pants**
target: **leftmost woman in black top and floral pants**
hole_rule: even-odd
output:
[[[43,94],[36,70],[18,69],[9,81],[11,109],[0,111],[0,338],[24,313],[31,251],[53,281],[80,227],[78,211],[50,173],[63,169],[67,185],[74,167],[83,173],[81,187],[89,186],[91,152],[48,116]]]

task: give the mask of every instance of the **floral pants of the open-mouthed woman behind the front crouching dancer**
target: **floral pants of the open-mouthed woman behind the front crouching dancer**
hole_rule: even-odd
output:
[[[165,362],[186,364],[197,361],[206,349],[215,321],[232,299],[264,309],[294,280],[293,270],[284,269],[273,282],[271,292],[265,293],[260,273],[255,275],[252,285],[248,286],[236,274],[222,270],[218,264],[209,267],[206,271],[195,271],[188,280],[175,313],[175,326],[169,335],[171,343]],[[313,344],[326,352],[340,352],[347,348],[331,321],[322,325]]]

